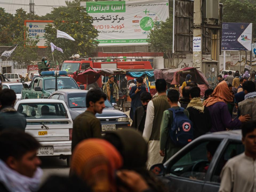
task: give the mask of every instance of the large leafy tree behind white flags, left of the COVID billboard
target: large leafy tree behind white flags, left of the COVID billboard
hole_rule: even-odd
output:
[[[97,30],[93,27],[92,17],[86,13],[86,8],[79,6],[79,1],[66,1],[67,7],[59,7],[52,12],[58,13],[52,24],[45,27],[46,46],[50,47],[50,43],[63,49],[64,54],[54,51],[54,57],[58,57],[58,61],[63,61],[73,54],[90,56],[95,51],[98,42]],[[57,29],[64,31],[75,39],[71,41],[64,38],[56,38]],[[48,49],[48,53],[51,49]]]

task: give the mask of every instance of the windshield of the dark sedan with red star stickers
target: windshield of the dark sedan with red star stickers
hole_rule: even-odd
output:
[[[71,93],[67,96],[69,107],[86,107],[86,93]],[[105,101],[107,108],[113,108],[109,100]]]

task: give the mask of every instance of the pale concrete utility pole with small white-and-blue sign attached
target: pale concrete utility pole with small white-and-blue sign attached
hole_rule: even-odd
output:
[[[193,51],[193,67],[200,67],[198,70],[202,71],[202,0],[194,0],[194,20],[193,20],[193,37],[201,38],[201,51]],[[194,47],[194,44],[193,44]]]

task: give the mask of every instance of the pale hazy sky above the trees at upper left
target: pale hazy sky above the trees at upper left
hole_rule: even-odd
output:
[[[69,0],[71,1],[71,0]],[[29,12],[29,2],[30,0],[0,0],[0,6],[5,9],[8,13],[15,13],[16,9],[20,9],[21,7]],[[18,3],[22,5],[7,5],[3,3]],[[46,13],[50,13],[52,10],[51,6],[57,5],[66,5],[65,0],[34,0],[35,3],[35,14],[41,16]],[[37,6],[37,5],[45,5],[45,7]]]

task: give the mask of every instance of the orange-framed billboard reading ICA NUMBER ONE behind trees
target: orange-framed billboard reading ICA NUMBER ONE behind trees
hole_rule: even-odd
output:
[[[51,20],[25,20],[24,25],[29,28],[28,35],[31,38],[36,38],[39,35],[39,42],[37,46],[39,48],[45,48],[45,39],[43,36],[45,35],[45,26],[48,23],[52,23]],[[24,37],[25,38],[25,37]]]

